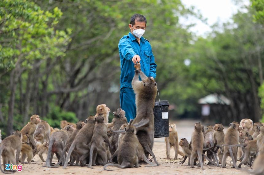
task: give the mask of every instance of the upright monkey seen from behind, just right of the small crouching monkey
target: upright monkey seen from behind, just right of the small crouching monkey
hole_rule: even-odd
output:
[[[203,168],[202,151],[204,144],[204,135],[202,132],[203,126],[199,123],[194,125],[194,131],[192,132],[192,152],[191,152],[191,167],[193,168],[194,159],[198,157],[199,167]]]

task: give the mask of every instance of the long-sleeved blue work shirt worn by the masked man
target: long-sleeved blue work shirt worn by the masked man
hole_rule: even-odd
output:
[[[135,75],[132,58],[135,55],[139,55],[141,59],[141,71],[143,71],[147,77],[156,78],[157,64],[154,61],[154,56],[148,40],[141,37],[140,44],[138,44],[137,39],[129,32],[128,35],[120,39],[118,49],[121,63],[120,89],[123,87],[132,88],[131,82]]]

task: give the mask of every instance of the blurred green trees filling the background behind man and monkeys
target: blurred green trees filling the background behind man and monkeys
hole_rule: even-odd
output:
[[[251,0],[207,37],[179,18],[204,20],[181,0],[3,0],[0,2],[0,128],[21,129],[33,114],[51,126],[84,120],[98,104],[120,107],[118,42],[134,13],[147,18],[144,38],[157,63],[170,117],[199,117],[197,100],[231,100],[232,118],[262,117],[264,0]],[[188,62],[188,64],[186,64]],[[185,64],[184,64],[185,63]],[[110,114],[110,118],[112,115]]]

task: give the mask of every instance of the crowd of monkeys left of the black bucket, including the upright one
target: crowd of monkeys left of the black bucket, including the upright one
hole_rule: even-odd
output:
[[[55,130],[45,121],[41,121],[38,115],[32,115],[30,122],[21,131],[15,131],[11,136],[2,140],[0,146],[3,158],[3,173],[6,171],[6,163],[17,165],[21,152],[21,163],[31,163],[34,155],[38,154],[44,166],[49,168],[63,168],[72,166],[103,165],[104,170],[108,166],[119,168],[140,167],[139,162],[145,162],[147,166],[159,166],[152,151],[154,143],[154,114],[153,108],[157,94],[157,83],[153,78],[146,77],[141,71],[140,64],[135,65],[135,75],[132,87],[136,94],[137,115],[134,120],[127,122],[125,111],[118,108],[114,114],[112,123],[108,123],[110,109],[105,105],[98,105],[96,114],[89,116],[85,122],[76,123],[76,128],[70,124],[63,129]],[[139,76],[141,81],[139,80]],[[67,124],[61,122],[61,126]],[[37,145],[36,141],[41,142]],[[42,154],[48,151],[47,159]],[[16,155],[15,155],[16,152]],[[66,152],[68,152],[66,154]],[[52,165],[53,155],[58,162]],[[155,163],[150,162],[149,154]],[[115,164],[115,163],[118,164]]]

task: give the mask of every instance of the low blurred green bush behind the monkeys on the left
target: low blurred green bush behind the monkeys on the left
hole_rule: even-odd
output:
[[[47,115],[47,117],[42,118],[46,120],[50,126],[53,128],[60,128],[60,121],[67,120],[67,122],[76,123],[78,122],[78,118],[76,118],[75,113],[63,111],[59,107],[54,107],[51,112]]]

